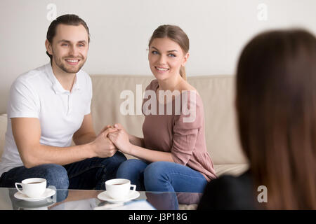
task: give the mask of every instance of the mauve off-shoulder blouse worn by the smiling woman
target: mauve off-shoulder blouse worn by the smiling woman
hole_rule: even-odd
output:
[[[195,169],[203,174],[207,181],[216,179],[213,162],[206,151],[204,108],[201,97],[199,94],[195,94],[196,99],[194,99],[192,92],[188,91],[187,97],[181,93],[169,103],[161,104],[158,96],[154,94],[158,87],[158,80],[152,80],[146,87],[146,92],[148,90],[151,92],[150,97],[147,96],[143,100],[145,148],[169,152],[174,162]],[[151,97],[156,97],[156,99],[151,99]],[[180,99],[178,102],[183,102],[180,107],[177,106],[179,105],[177,98]],[[150,102],[148,102],[149,100]],[[156,109],[154,109],[154,102],[157,105]],[[168,106],[170,109],[170,104],[172,104],[172,113],[166,113]],[[159,109],[159,106],[162,108]],[[187,110],[183,111],[183,107]],[[194,108],[195,118],[194,112],[190,110]],[[164,109],[164,113],[161,112],[162,109]],[[187,113],[188,111],[190,113]],[[188,120],[185,121],[184,118]]]

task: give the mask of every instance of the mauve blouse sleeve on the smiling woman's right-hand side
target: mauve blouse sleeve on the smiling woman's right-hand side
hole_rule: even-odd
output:
[[[176,115],[173,121],[171,154],[174,162],[180,165],[186,165],[192,156],[204,116],[199,96],[196,93],[195,97],[192,93],[189,95],[187,104],[181,105],[180,115]]]

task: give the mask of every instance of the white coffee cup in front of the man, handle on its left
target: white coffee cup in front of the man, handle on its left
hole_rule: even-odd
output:
[[[41,197],[46,190],[46,179],[43,178],[29,178],[22,181],[22,183],[15,183],[15,188],[22,194],[28,197],[37,198]],[[22,190],[18,188],[22,186]]]

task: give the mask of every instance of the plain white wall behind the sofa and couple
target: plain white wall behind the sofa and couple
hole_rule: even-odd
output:
[[[48,62],[44,41],[49,3],[57,15],[74,13],[91,31],[84,70],[150,75],[147,43],[162,24],[180,26],[190,38],[187,76],[233,74],[242,47],[259,31],[303,26],[316,33],[315,0],[1,0],[0,113],[20,74]],[[259,20],[268,7],[268,20]]]

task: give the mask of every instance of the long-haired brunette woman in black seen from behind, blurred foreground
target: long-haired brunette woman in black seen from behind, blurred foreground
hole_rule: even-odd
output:
[[[237,119],[249,170],[206,186],[198,209],[316,209],[316,38],[259,34],[237,66]]]

